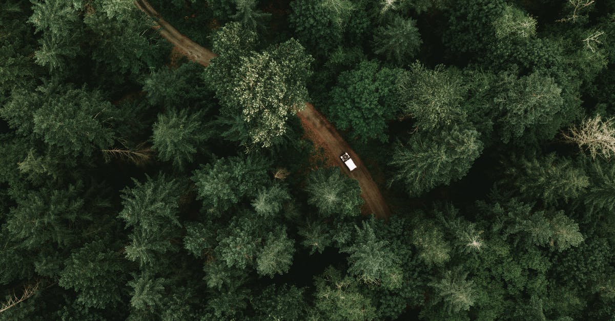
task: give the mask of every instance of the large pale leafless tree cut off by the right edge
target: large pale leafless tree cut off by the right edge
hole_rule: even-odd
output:
[[[574,125],[568,133],[563,133],[566,140],[579,145],[582,151],[589,151],[592,158],[601,155],[606,159],[615,156],[615,118],[603,121],[600,115],[584,119],[581,125]]]

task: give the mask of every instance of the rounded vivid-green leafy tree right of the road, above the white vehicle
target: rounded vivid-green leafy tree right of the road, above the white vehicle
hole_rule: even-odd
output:
[[[395,79],[398,69],[380,67],[376,61],[362,61],[357,68],[339,74],[330,92],[331,122],[339,129],[352,129],[352,137],[385,142],[387,122],[394,119]]]

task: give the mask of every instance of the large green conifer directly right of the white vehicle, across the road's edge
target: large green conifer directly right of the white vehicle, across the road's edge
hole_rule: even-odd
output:
[[[394,180],[402,181],[413,196],[462,178],[483,149],[475,130],[456,125],[439,137],[426,136],[418,133],[407,146],[397,146],[391,161],[397,167]]]

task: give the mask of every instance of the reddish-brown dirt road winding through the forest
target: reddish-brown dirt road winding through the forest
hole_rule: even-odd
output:
[[[208,66],[209,61],[218,56],[211,50],[199,46],[199,44],[173,28],[146,0],[135,0],[135,5],[158,23],[159,27],[157,30],[159,30],[163,38],[178,48],[176,53],[181,52],[189,60],[203,66]],[[343,173],[359,181],[361,197],[365,201],[361,207],[361,212],[365,215],[373,213],[377,218],[388,218],[391,215],[391,210],[384,201],[378,185],[371,177],[370,172],[363,164],[359,155],[339,135],[335,127],[311,103],[306,103],[306,107],[297,113],[297,116],[301,119],[306,135],[314,142],[315,148],[323,148],[325,150],[325,154],[328,157],[327,164],[337,164]],[[346,168],[341,159],[339,159],[339,156],[343,153],[348,153],[352,157],[352,160],[357,165],[357,169],[351,172]]]

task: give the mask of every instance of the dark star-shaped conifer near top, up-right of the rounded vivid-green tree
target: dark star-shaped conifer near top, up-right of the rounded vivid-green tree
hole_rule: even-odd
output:
[[[374,30],[374,52],[399,66],[411,63],[421,44],[421,34],[412,18],[395,16],[386,26]]]

